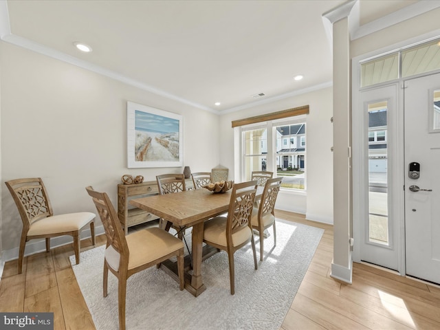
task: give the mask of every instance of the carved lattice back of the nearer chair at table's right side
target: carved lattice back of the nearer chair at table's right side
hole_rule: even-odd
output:
[[[226,237],[232,240],[232,234],[245,226],[250,226],[250,217],[256,194],[256,181],[234,184],[228,210]]]

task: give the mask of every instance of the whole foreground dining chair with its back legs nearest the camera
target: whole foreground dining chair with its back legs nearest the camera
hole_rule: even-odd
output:
[[[184,243],[172,234],[157,228],[147,228],[124,234],[113,205],[106,193],[86,188],[100,215],[107,236],[104,253],[103,294],[107,297],[109,270],[118,278],[119,329],[125,329],[126,281],[131,275],[177,256],[179,288],[184,289]],[[164,276],[167,276],[164,273]],[[148,285],[148,283],[145,283]]]

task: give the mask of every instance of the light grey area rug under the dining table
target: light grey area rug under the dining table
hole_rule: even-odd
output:
[[[179,291],[163,270],[151,267],[127,281],[127,329],[278,330],[289,310],[324,230],[276,220],[276,248],[272,230],[265,239],[265,260],[254,270],[252,248],[234,254],[235,294],[230,294],[228,254],[219,252],[203,261],[206,291],[200,296]],[[190,235],[187,235],[187,241]],[[189,245],[190,246],[190,245]],[[109,295],[102,297],[104,245],[81,252],[72,268],[98,330],[118,329],[118,282],[109,272]]]

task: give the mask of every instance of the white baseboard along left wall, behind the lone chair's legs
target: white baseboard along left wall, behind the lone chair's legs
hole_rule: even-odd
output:
[[[95,236],[103,233],[104,233],[104,227],[102,225],[95,227]],[[89,237],[91,237],[90,228],[81,231],[80,239],[87,239]],[[52,248],[56,248],[57,246],[66,245],[72,243],[73,241],[74,239],[72,238],[72,236],[68,236],[68,235],[54,237],[53,239],[50,240],[50,248],[52,249]],[[30,256],[32,254],[44,252],[45,250],[46,250],[45,239],[39,239],[39,240],[34,239],[26,243],[25,256]],[[72,254],[74,254],[73,250],[72,250]],[[3,251],[3,254],[1,255],[1,271],[3,272],[3,266],[5,262],[14,259],[19,259],[19,247],[13,248],[11,250]]]

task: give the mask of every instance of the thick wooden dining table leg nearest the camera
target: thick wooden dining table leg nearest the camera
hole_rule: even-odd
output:
[[[203,222],[200,222],[192,227],[192,276],[190,287],[186,287],[196,297],[206,290],[201,277],[202,245]],[[187,285],[189,286],[189,283]]]

